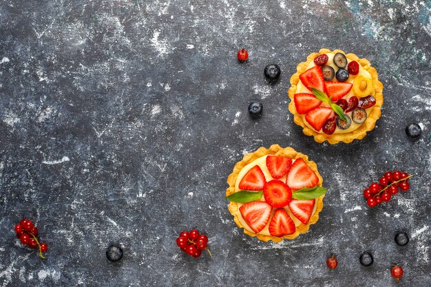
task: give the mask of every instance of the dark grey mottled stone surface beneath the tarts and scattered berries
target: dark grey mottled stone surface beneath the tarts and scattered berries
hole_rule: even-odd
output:
[[[428,0],[1,1],[0,286],[431,286],[430,11]],[[288,79],[321,47],[379,71],[386,102],[364,140],[319,144],[293,124]],[[264,81],[272,62],[277,85]],[[308,154],[329,189],[319,222],[281,244],[244,235],[224,200],[235,162],[274,143]],[[414,173],[412,189],[368,209],[363,189],[394,169]],[[47,260],[15,239],[22,217]],[[212,259],[176,247],[191,228],[209,235]],[[107,262],[109,242],[122,262]]]

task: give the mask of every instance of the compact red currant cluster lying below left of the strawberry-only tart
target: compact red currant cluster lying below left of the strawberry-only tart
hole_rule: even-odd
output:
[[[209,249],[207,248],[207,243],[207,235],[199,234],[199,231],[196,229],[193,229],[190,232],[182,231],[180,236],[176,239],[176,244],[182,251],[196,258],[200,257],[200,254],[204,249],[207,249],[211,256],[211,252],[209,252]]]

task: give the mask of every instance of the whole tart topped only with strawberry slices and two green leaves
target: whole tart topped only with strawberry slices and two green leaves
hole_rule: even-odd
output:
[[[229,211],[244,233],[293,240],[319,220],[326,189],[315,162],[291,147],[247,153],[227,178]]]

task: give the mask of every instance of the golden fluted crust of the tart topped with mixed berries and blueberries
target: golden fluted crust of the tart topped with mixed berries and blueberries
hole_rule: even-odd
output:
[[[302,74],[308,67],[308,65],[311,63],[311,61],[314,60],[315,56],[319,54],[325,54],[325,53],[343,53],[346,55],[346,58],[350,61],[357,61],[368,73],[370,73],[372,77],[372,83],[374,84],[375,88],[375,99],[376,104],[374,107],[372,107],[372,110],[370,114],[368,114],[368,118],[364,123],[361,124],[360,127],[357,129],[350,131],[345,134],[320,134],[319,132],[315,131],[314,129],[311,129],[306,126],[304,123],[304,120],[302,119],[302,116],[296,111],[295,102],[293,100],[293,97],[296,93],[297,84],[299,83],[299,75]],[[288,89],[288,96],[291,98],[291,103],[288,105],[289,111],[293,114],[293,121],[295,124],[301,126],[303,129],[302,131],[307,136],[314,136],[314,140],[316,142],[324,142],[325,140],[328,140],[328,142],[331,145],[335,145],[338,142],[352,142],[353,140],[361,140],[364,138],[367,134],[367,131],[372,131],[376,125],[376,121],[381,116],[381,105],[383,105],[383,84],[379,81],[377,70],[375,70],[374,67],[371,67],[371,63],[367,59],[359,59],[358,56],[355,54],[346,54],[341,50],[328,50],[328,49],[320,49],[319,53],[311,53],[307,56],[307,61],[299,63],[296,67],[297,72],[291,76],[291,87]]]

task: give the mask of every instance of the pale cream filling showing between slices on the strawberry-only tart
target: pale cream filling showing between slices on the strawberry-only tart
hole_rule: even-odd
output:
[[[249,171],[255,165],[258,165],[260,167],[260,169],[262,169],[262,172],[264,173],[264,176],[265,176],[267,182],[274,179],[271,176],[271,173],[269,172],[268,168],[266,167],[266,157],[267,156],[262,156],[262,158],[257,158],[257,160],[254,160],[253,162],[247,164],[245,167],[242,168],[242,170],[240,171],[240,173],[238,173],[238,178],[236,179],[236,182],[235,182],[235,192],[241,190],[238,187],[238,185],[240,184],[240,181],[242,180],[242,178],[244,178],[244,176],[247,173],[247,171]],[[295,160],[293,160],[293,162],[295,162]],[[282,178],[279,178],[279,180],[281,180],[282,182],[286,182],[286,176],[283,176]],[[260,200],[264,202],[265,198],[262,196],[262,198]],[[242,226],[244,226],[244,228],[246,228],[246,230],[254,233],[253,229],[251,229],[251,227],[249,226],[249,224],[247,224],[247,222],[244,220],[244,218],[242,217],[242,215],[240,213],[240,207],[242,206],[242,204],[244,204],[244,203],[238,202],[238,211],[236,212],[236,216],[238,216],[238,220],[240,220]],[[317,208],[317,204],[314,205],[313,213],[311,213],[312,216],[316,212],[316,208]],[[293,215],[293,213],[291,212],[291,209],[289,209],[288,206],[284,206],[284,210],[292,218],[293,222],[295,222],[295,226],[299,226],[300,224],[302,224],[302,222],[300,222],[295,217],[295,215]],[[271,213],[271,215],[269,217],[268,223],[266,224],[265,228],[262,231],[260,231],[260,234],[271,235],[269,233],[269,222],[271,222],[271,218],[273,217],[273,213],[274,212],[275,212],[275,209],[273,209],[273,211],[272,211],[272,213]]]

